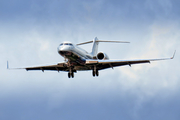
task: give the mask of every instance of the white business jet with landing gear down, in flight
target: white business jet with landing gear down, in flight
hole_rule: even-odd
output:
[[[35,67],[26,67],[26,68],[18,68],[18,69],[26,69],[29,70],[52,70],[52,71],[65,71],[68,72],[69,78],[74,78],[74,73],[77,71],[86,71],[92,70],[93,77],[99,76],[99,70],[113,68],[117,66],[129,65],[132,64],[140,64],[140,63],[150,63],[150,61],[158,61],[158,60],[168,60],[171,58],[163,58],[163,59],[140,59],[140,60],[110,60],[107,54],[103,52],[98,53],[98,44],[99,42],[114,42],[114,43],[129,43],[125,41],[105,41],[98,40],[98,38],[94,38],[92,41],[80,43],[80,44],[72,44],[71,42],[63,42],[58,47],[58,53],[65,58],[65,62],[52,64],[52,65],[44,65],[44,66],[35,66]],[[84,45],[92,43],[92,52],[88,53],[85,50],[79,48],[79,45]],[[9,65],[7,63],[7,68],[9,69]]]

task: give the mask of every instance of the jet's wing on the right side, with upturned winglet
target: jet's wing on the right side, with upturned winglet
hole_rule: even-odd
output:
[[[174,53],[175,55],[175,53]],[[150,63],[151,61],[159,61],[159,60],[169,60],[171,58],[162,58],[162,59],[139,59],[139,60],[86,60],[86,65],[89,66],[96,66],[98,70],[106,69],[106,68],[113,68],[117,66],[124,66],[124,65],[133,65],[133,64],[141,64],[141,63]]]

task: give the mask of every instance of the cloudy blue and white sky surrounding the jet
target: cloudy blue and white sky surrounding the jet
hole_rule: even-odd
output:
[[[179,120],[179,0],[1,0],[1,120]],[[98,37],[112,59],[173,60],[77,72],[7,70],[63,62],[63,41]],[[91,44],[82,48],[91,50]]]

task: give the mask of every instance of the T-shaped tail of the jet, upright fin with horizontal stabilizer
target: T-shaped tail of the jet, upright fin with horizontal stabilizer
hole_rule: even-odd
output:
[[[83,44],[93,43],[91,54],[92,54],[92,56],[96,56],[97,53],[98,53],[98,45],[99,45],[99,42],[130,43],[130,42],[126,42],[126,41],[98,40],[98,38],[95,37],[92,41],[88,41],[88,42],[84,42],[84,43],[79,43],[79,44],[77,44],[77,45],[83,45]]]

